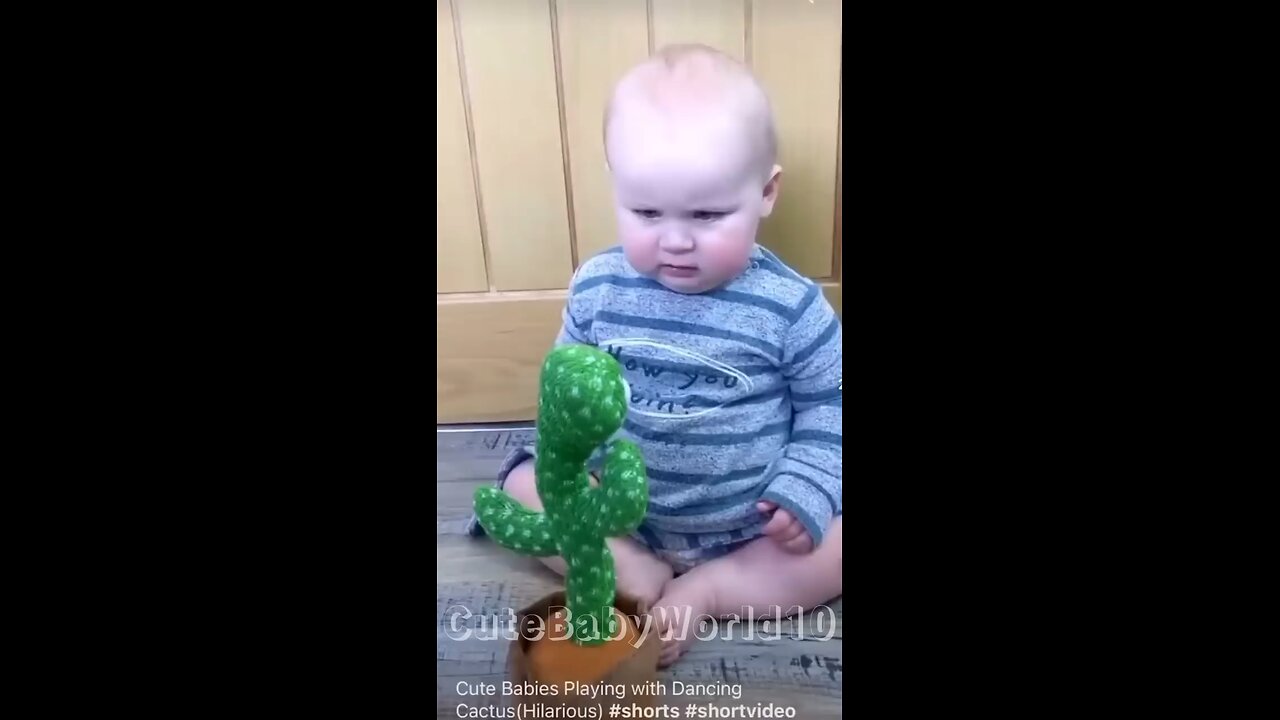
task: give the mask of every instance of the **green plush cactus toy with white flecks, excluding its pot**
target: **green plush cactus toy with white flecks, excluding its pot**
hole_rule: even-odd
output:
[[[612,355],[564,345],[543,363],[534,471],[543,512],[492,487],[475,493],[476,518],[498,544],[522,555],[558,555],[567,564],[564,605],[577,644],[599,644],[618,630],[613,555],[604,539],[635,530],[649,506],[640,448],[614,439],[599,487],[586,461],[622,425],[627,384]]]

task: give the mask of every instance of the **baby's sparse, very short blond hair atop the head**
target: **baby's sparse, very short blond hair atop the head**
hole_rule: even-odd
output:
[[[613,88],[604,109],[604,160],[609,160],[609,124],[622,97],[639,96],[654,108],[681,104],[727,104],[749,126],[768,178],[777,163],[778,140],[764,87],[737,59],[700,44],[667,45],[631,68]]]

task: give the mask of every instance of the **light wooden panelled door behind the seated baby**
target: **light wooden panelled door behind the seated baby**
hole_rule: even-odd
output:
[[[613,82],[654,47],[749,63],[778,123],[760,243],[841,293],[838,0],[436,0],[436,423],[532,420],[573,269],[614,241]]]

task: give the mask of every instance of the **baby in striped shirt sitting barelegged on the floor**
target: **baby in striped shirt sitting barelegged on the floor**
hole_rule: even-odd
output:
[[[607,350],[630,386],[621,437],[644,452],[650,503],[608,542],[618,591],[653,609],[662,665],[701,616],[842,594],[841,324],[755,242],[778,199],[776,145],[758,82],[704,46],[641,63],[605,111],[621,245],[575,273],[556,342]],[[532,448],[499,486],[541,509]]]

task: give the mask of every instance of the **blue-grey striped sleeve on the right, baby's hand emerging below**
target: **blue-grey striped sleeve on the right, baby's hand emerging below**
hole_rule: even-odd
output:
[[[842,510],[844,350],[840,318],[817,286],[805,302],[783,354],[795,411],[791,438],[769,469],[762,500],[787,509],[818,546]]]

